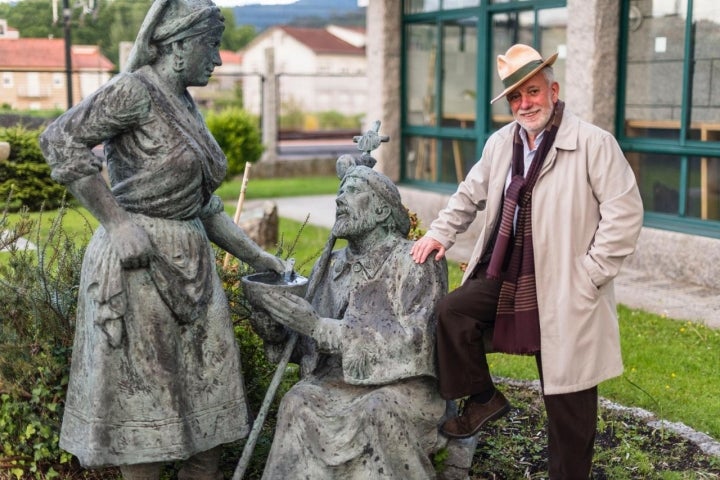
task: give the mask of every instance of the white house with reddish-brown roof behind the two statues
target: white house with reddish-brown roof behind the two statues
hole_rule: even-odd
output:
[[[266,52],[273,49],[280,105],[306,112],[364,113],[368,98],[365,39],[364,29],[338,26],[265,30],[242,52],[245,108],[260,113]]]

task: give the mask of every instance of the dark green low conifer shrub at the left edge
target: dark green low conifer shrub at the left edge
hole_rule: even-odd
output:
[[[0,162],[0,198],[12,191],[12,201],[7,205],[10,211],[24,207],[36,212],[43,206],[55,209],[65,196],[65,187],[50,178],[50,166],[38,143],[41,131],[20,125],[0,128],[0,141],[10,144],[10,158]]]

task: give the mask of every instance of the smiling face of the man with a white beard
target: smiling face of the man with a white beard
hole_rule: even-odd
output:
[[[542,72],[538,72],[505,97],[513,118],[531,138],[542,132],[550,121],[559,90],[557,82],[548,85]]]

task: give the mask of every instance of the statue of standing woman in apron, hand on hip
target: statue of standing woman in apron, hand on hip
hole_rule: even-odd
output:
[[[55,180],[99,221],[82,267],[60,446],[125,479],[222,478],[249,431],[240,357],[210,241],[284,270],[224,213],[226,158],[189,86],[221,64],[210,0],[155,0],[126,71],[41,137]],[[104,143],[110,185],[92,148]]]

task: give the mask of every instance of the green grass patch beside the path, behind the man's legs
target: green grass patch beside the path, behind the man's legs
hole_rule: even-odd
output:
[[[720,439],[720,331],[618,307],[625,373],[600,384],[600,395],[640,407]],[[493,353],[494,375],[537,379],[532,357]]]

